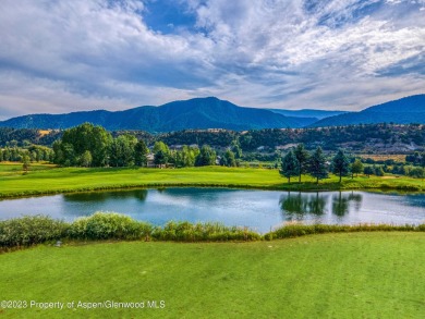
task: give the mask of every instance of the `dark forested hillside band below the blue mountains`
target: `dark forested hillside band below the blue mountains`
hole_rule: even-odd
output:
[[[51,146],[62,137],[63,131],[0,128],[0,146],[37,144]],[[319,128],[268,128],[235,132],[229,130],[186,130],[151,135],[143,131],[116,131],[112,137],[132,135],[147,146],[162,140],[171,148],[181,145],[210,145],[226,149],[236,142],[245,152],[260,150],[274,152],[293,144],[304,144],[307,149],[320,146],[326,151],[344,148],[356,154],[410,154],[424,150],[425,125],[363,124]]]

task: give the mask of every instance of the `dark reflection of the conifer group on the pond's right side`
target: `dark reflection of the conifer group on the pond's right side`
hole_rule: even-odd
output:
[[[280,196],[279,205],[284,220],[303,220],[305,216],[323,216],[328,210],[337,217],[343,217],[351,210],[359,211],[362,195],[352,193],[291,193]]]

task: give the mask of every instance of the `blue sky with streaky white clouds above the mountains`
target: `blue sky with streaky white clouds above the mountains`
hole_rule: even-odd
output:
[[[0,120],[217,96],[361,110],[425,93],[425,0],[2,0]]]

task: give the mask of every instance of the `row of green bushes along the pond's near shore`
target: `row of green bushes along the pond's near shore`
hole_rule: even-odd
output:
[[[165,226],[136,221],[120,213],[96,212],[69,223],[46,216],[22,217],[0,221],[0,250],[26,247],[40,243],[75,241],[175,241],[175,242],[229,242],[260,241],[296,237],[308,234],[371,231],[425,232],[421,225],[326,225],[289,224],[260,235],[248,228],[226,226],[220,223],[190,223],[170,221]]]

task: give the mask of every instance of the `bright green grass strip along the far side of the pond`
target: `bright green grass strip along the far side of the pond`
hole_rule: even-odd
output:
[[[337,191],[337,189],[394,189],[425,192],[422,180],[393,176],[344,177],[323,180],[319,184],[309,176],[303,183],[288,183],[277,170],[204,167],[174,170],[131,168],[52,168],[37,167],[23,174],[20,165],[0,164],[0,198],[56,193],[102,191],[130,187],[161,186],[215,186],[251,187],[286,191]],[[21,165],[22,167],[22,165]]]

